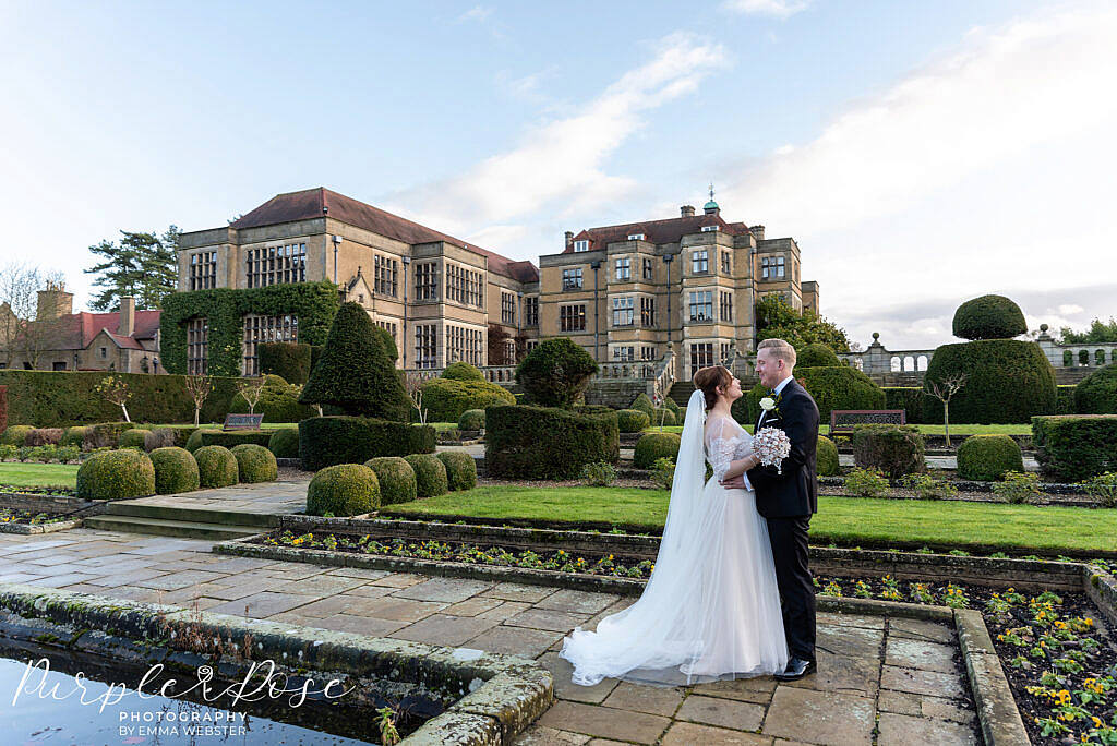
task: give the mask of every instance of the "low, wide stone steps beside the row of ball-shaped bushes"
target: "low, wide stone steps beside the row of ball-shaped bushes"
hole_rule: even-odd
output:
[[[278,519],[262,513],[142,505],[121,500],[109,503],[105,513],[85,518],[82,523],[86,528],[226,542],[266,532],[278,525]]]

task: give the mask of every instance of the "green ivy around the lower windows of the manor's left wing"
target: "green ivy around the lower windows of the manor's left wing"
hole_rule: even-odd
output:
[[[337,286],[330,281],[175,293],[163,302],[160,356],[169,373],[185,373],[187,322],[206,318],[209,374],[240,375],[246,315],[292,314],[298,318],[298,341],[321,345],[340,305]]]

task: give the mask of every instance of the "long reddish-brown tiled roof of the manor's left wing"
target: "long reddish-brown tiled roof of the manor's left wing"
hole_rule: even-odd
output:
[[[521,283],[536,283],[540,279],[540,270],[531,261],[514,261],[499,254],[494,254],[488,249],[454,238],[417,222],[385,212],[380,208],[365,204],[353,198],[332,192],[324,187],[307,189],[300,192],[287,192],[276,194],[270,200],[256,208],[248,214],[241,217],[232,223],[232,228],[259,228],[261,226],[275,226],[295,220],[311,220],[323,217],[323,208],[326,209],[326,217],[340,220],[341,222],[356,226],[372,231],[379,236],[402,241],[404,243],[432,243],[446,241],[456,246],[462,246],[475,254],[480,254],[488,259],[489,271]]]

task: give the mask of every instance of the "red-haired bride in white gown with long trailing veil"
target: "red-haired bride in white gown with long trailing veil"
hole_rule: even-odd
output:
[[[752,490],[718,484],[758,462],[752,436],[729,413],[741,382],[715,365],[698,371],[694,384],[651,578],[596,632],[577,628],[563,641],[558,654],[574,666],[574,683],[614,677],[689,685],[787,664],[767,524]]]

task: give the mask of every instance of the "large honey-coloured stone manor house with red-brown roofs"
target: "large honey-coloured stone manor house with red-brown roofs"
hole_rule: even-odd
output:
[[[650,367],[669,356],[669,377],[689,380],[754,350],[757,298],[779,294],[817,312],[818,284],[802,281],[801,268],[794,239],[727,222],[713,191],[701,213],[684,205],[674,218],[566,232],[536,268],[318,188],[183,233],[179,290],[332,280],[392,334],[407,370],[510,366],[517,338],[523,351],[570,336],[608,365]],[[257,342],[298,341],[290,315],[242,322],[245,374],[257,372]],[[187,366],[200,372],[208,326],[203,317],[187,324]],[[495,350],[490,335],[502,341]]]

